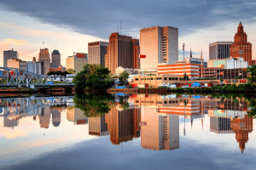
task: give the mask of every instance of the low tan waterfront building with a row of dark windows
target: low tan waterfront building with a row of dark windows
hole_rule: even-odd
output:
[[[172,84],[174,82],[179,81],[179,75],[177,74],[163,74],[163,75],[156,75],[156,76],[134,76],[133,82],[130,84],[134,87],[144,86],[148,88],[157,88],[162,86],[163,84]],[[142,87],[143,88],[143,87]]]

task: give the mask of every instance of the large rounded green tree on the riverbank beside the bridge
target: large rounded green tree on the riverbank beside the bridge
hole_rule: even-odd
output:
[[[84,65],[84,70],[73,78],[73,83],[77,90],[86,88],[105,91],[114,84],[114,79],[109,76],[109,73],[108,68],[103,68],[102,65]]]

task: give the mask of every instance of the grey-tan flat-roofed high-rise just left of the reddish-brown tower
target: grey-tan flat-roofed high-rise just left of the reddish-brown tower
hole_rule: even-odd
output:
[[[88,42],[88,64],[105,66],[105,54],[109,42]]]

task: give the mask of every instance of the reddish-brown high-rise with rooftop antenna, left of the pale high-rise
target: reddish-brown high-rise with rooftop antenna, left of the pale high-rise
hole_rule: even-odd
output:
[[[119,35],[118,32],[112,33],[109,37],[105,67],[108,67],[113,74],[115,74],[115,70],[119,66],[123,68],[138,68],[139,63],[137,62],[137,65],[134,63],[139,58],[138,43],[139,40],[132,40],[131,37]]]

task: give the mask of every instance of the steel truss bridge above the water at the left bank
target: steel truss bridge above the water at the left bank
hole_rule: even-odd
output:
[[[54,84],[51,77],[38,75],[30,71],[0,67],[0,87],[28,87],[29,85],[34,85],[34,87],[74,86],[73,83]]]

